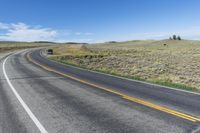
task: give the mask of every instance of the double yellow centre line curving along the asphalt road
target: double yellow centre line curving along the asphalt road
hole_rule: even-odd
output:
[[[143,106],[146,106],[146,107],[149,107],[149,108],[153,108],[153,109],[156,109],[156,110],[159,110],[161,112],[165,112],[165,113],[168,113],[168,114],[171,114],[171,115],[174,115],[174,116],[177,116],[177,117],[180,117],[182,119],[185,119],[185,120],[189,120],[189,121],[192,121],[192,122],[200,122],[200,118],[198,117],[195,117],[195,116],[192,116],[192,115],[189,115],[189,114],[186,114],[186,113],[183,113],[183,112],[179,112],[179,111],[176,111],[176,110],[173,110],[173,109],[170,109],[168,107],[164,107],[164,106],[160,106],[158,104],[155,104],[155,103],[152,103],[152,102],[149,102],[149,101],[145,101],[145,100],[142,100],[142,99],[139,99],[139,98],[136,98],[136,97],[133,97],[133,96],[128,96],[126,94],[123,94],[121,92],[118,92],[118,91],[114,91],[114,90],[111,90],[111,89],[108,89],[108,88],[105,88],[105,87],[102,87],[102,86],[99,86],[99,85],[95,85],[93,83],[90,83],[88,81],[85,81],[85,80],[82,80],[82,79],[79,79],[79,78],[76,78],[74,76],[71,76],[71,75],[68,75],[68,74],[64,74],[64,73],[61,73],[59,71],[56,71],[56,70],[53,70],[52,68],[50,67],[47,67],[47,66],[44,66],[42,64],[39,64],[38,62],[36,62],[35,60],[33,60],[31,57],[30,57],[30,53],[27,54],[27,58],[30,62],[42,67],[43,69],[47,70],[47,71],[51,71],[51,72],[54,72],[56,74],[59,74],[59,75],[62,75],[64,77],[67,77],[67,78],[70,78],[70,79],[73,79],[73,80],[76,80],[78,82],[81,82],[81,83],[84,83],[86,85],[90,85],[90,86],[93,86],[95,88],[98,88],[98,89],[101,89],[101,90],[104,90],[104,91],[107,91],[107,92],[110,92],[110,93],[113,93],[113,94],[116,94],[126,100],[129,100],[129,101],[132,101],[134,103],[138,103],[138,104],[141,104]]]

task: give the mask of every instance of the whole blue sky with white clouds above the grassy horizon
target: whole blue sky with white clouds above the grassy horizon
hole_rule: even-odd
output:
[[[0,0],[0,40],[200,40],[200,0]]]

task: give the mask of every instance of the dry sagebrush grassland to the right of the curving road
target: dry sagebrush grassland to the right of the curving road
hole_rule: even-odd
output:
[[[199,41],[130,41],[53,49],[50,59],[62,63],[200,92]]]

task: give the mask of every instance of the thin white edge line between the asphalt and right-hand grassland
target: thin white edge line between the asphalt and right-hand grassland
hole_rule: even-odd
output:
[[[42,57],[46,58],[46,57],[42,54],[41,51],[40,51],[40,55],[41,55]],[[48,59],[48,58],[46,58],[46,59]],[[48,60],[49,60],[49,59],[48,59]],[[176,88],[172,88],[172,87],[168,87],[168,86],[163,86],[163,85],[148,83],[148,82],[145,82],[145,81],[129,79],[129,78],[126,78],[126,77],[120,77],[120,76],[111,75],[111,74],[108,74],[108,73],[102,73],[102,72],[98,72],[98,71],[93,71],[93,70],[89,70],[89,69],[84,69],[84,68],[72,66],[72,65],[69,65],[69,64],[64,64],[64,63],[57,62],[57,61],[54,61],[54,60],[50,60],[50,61],[55,62],[55,63],[62,64],[62,65],[65,65],[65,66],[77,68],[77,69],[80,69],[80,70],[85,70],[85,71],[93,72],[93,73],[98,73],[98,74],[102,74],[102,75],[107,75],[107,76],[111,76],[111,77],[116,77],[116,78],[120,78],[120,79],[129,80],[129,81],[134,81],[134,82],[138,82],[138,83],[143,83],[143,84],[147,84],[147,85],[151,85],[151,86],[162,87],[162,88],[166,88],[166,89],[170,89],[170,90],[175,90],[175,91],[180,91],[180,92],[186,92],[186,93],[190,93],[190,94],[200,95],[200,93],[198,93],[198,92],[192,92],[192,91],[187,91],[187,90],[182,90],[182,89],[176,89]]]

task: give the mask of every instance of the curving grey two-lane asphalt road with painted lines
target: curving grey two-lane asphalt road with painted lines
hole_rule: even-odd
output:
[[[61,65],[42,57],[38,50],[30,52],[30,60],[27,53],[1,59],[2,133],[200,132],[198,94]],[[149,107],[150,103],[170,110]],[[173,110],[181,115],[170,113]]]

